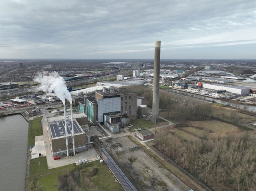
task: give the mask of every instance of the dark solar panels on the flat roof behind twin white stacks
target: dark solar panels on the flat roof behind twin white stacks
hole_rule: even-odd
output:
[[[81,128],[79,127],[79,125],[77,124],[77,121],[73,121],[74,124],[74,134],[76,133],[82,133],[83,131],[81,130]],[[71,121],[67,121],[67,131],[68,134],[71,134],[71,130],[72,130],[72,123]],[[52,138],[56,138],[56,137],[61,137],[65,135],[65,121],[56,121],[54,123],[50,123],[50,131],[52,133]]]

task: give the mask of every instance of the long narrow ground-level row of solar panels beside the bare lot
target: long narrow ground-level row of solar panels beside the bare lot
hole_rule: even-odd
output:
[[[123,171],[119,168],[119,166],[115,163],[115,161],[112,159],[112,157],[107,153],[107,151],[104,148],[101,148],[102,151],[107,156],[106,164],[108,165],[109,169],[113,172],[123,189],[125,191],[137,191],[137,189],[133,186],[133,184],[129,181],[129,179],[126,177],[126,175],[123,173]]]

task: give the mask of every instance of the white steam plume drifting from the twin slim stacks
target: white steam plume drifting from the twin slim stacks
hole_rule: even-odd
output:
[[[50,73],[47,75],[38,74],[34,79],[35,82],[38,82],[37,86],[38,91],[43,91],[45,93],[52,93],[54,91],[55,95],[65,104],[65,99],[72,104],[72,97],[66,86],[66,82],[62,76],[58,76],[57,73]]]

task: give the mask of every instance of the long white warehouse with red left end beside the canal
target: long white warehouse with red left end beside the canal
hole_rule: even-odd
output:
[[[242,96],[250,94],[250,88],[245,86],[228,86],[224,84],[202,84],[202,88],[208,88],[212,90],[226,90],[234,94],[240,94]]]

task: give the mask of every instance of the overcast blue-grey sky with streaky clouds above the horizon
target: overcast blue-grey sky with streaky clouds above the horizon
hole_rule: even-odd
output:
[[[256,58],[255,0],[0,0],[0,58]]]

